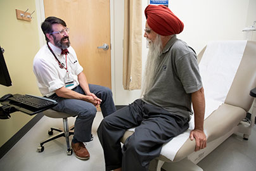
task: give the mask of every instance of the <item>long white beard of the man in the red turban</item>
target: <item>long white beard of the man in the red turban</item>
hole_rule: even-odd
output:
[[[147,39],[148,40],[148,39]],[[157,67],[160,62],[160,54],[162,53],[162,41],[160,35],[157,35],[155,42],[149,41],[149,51],[148,58],[146,60],[146,66],[144,70],[143,77],[143,87],[141,91],[141,96],[148,92],[155,79],[155,75],[157,74]]]

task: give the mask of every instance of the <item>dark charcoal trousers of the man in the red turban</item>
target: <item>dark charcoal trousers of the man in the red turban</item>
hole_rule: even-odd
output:
[[[124,132],[136,127],[121,148]],[[160,155],[163,143],[188,129],[188,119],[171,114],[141,99],[105,117],[97,130],[103,147],[106,170],[148,170],[151,160]]]

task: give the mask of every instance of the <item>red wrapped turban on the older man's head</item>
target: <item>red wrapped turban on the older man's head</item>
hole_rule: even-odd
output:
[[[163,5],[148,5],[145,16],[150,28],[160,35],[179,34],[184,28],[181,20]]]

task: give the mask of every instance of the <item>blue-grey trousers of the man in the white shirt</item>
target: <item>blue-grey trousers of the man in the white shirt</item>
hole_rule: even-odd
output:
[[[93,84],[89,84],[89,89],[98,98],[102,99],[100,106],[103,117],[116,111],[115,104],[113,103],[112,91],[110,89]],[[80,85],[75,87],[73,91],[85,94]],[[77,116],[74,130],[75,139],[79,142],[91,141],[91,127],[97,112],[96,107],[87,101],[60,98],[56,94],[53,94],[53,96],[50,96],[49,98],[58,101],[58,105],[53,107],[54,110],[69,113],[70,116]]]

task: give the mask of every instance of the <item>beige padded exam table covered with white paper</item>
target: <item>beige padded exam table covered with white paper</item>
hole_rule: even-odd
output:
[[[229,136],[240,132],[244,141],[250,138],[256,115],[256,103],[253,103],[256,91],[256,42],[210,42],[198,54],[198,62],[205,89],[204,131],[207,148],[195,152],[195,140],[189,139],[189,132],[193,129],[192,118],[188,131],[163,144],[160,156],[150,163],[149,170],[203,170],[196,164]],[[243,120],[250,109],[252,115],[249,124]],[[127,130],[121,142],[124,143],[133,131]],[[172,149],[179,142],[182,144]]]

